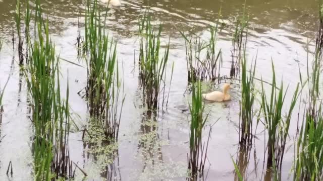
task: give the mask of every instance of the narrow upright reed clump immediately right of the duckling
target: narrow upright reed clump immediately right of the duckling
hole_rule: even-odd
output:
[[[241,101],[240,101],[240,114],[239,114],[239,143],[240,145],[251,145],[252,144],[252,126],[254,118],[254,101],[256,98],[256,92],[254,87],[254,76],[256,69],[257,57],[255,58],[255,63],[252,64],[249,69],[249,75],[247,75],[247,60],[246,53],[243,53],[243,58],[241,61]]]

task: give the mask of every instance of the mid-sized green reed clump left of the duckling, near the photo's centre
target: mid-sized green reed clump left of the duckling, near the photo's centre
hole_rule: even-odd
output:
[[[157,27],[151,24],[149,12],[146,12],[143,18],[139,20],[140,80],[141,86],[144,89],[144,103],[146,102],[148,109],[157,109],[161,82],[166,81],[166,66],[170,44],[168,41],[164,55],[160,58],[160,36],[162,30],[161,24]],[[165,84],[163,88],[165,88]]]

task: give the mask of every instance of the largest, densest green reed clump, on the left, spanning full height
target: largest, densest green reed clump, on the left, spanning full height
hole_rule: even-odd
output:
[[[55,45],[49,38],[48,20],[42,20],[39,1],[36,1],[36,7],[38,41],[28,42],[30,63],[25,71],[34,126],[34,179],[72,178],[68,143],[69,89],[62,101]]]

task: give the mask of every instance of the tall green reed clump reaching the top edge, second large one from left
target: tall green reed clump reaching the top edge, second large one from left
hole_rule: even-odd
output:
[[[85,15],[86,95],[90,115],[102,122],[105,136],[115,141],[118,140],[125,97],[121,92],[117,43],[109,39],[101,20],[97,1],[93,5],[88,1]]]

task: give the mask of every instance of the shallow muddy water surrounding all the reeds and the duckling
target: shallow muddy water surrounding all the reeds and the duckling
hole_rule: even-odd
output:
[[[23,30],[21,32],[23,38],[22,51],[24,60],[26,60],[25,11],[27,3],[25,1],[20,3],[21,29]],[[317,45],[316,32],[319,27],[319,11],[321,11],[318,1],[247,0],[244,9],[244,1],[240,0],[122,0],[120,7],[111,7],[107,13],[105,12],[106,4],[98,3],[97,8],[101,11],[99,23],[102,24],[102,30],[109,33],[107,45],[109,51],[114,47],[114,44],[110,43],[116,42],[116,67],[118,67],[119,76],[118,80],[116,80],[116,76],[113,76],[114,83],[112,84],[116,87],[112,87],[112,89],[116,91],[120,85],[120,90],[118,89],[120,96],[116,101],[119,103],[118,107],[113,107],[116,112],[112,114],[115,113],[114,118],[116,118],[118,127],[117,141],[111,141],[111,137],[106,138],[107,133],[102,132],[102,128],[106,125],[100,124],[106,122],[96,122],[92,114],[95,110],[88,104],[91,96],[88,96],[89,93],[85,87],[91,84],[88,77],[90,63],[85,55],[80,56],[83,45],[80,46],[81,50],[78,51],[78,38],[85,41],[87,32],[88,35],[91,34],[87,30],[91,26],[85,23],[85,21],[89,22],[87,2],[85,0],[43,0],[40,1],[40,4],[42,18],[48,19],[48,32],[53,47],[55,47],[55,56],[60,57],[59,71],[55,70],[55,66],[50,68],[49,62],[44,66],[44,69],[41,69],[40,79],[43,77],[50,79],[47,74],[56,71],[53,76],[59,77],[60,98],[62,97],[61,100],[68,100],[70,115],[65,117],[64,110],[60,112],[62,115],[59,116],[59,119],[64,117],[66,120],[70,120],[69,133],[64,133],[64,144],[66,143],[69,147],[61,146],[57,150],[66,149],[63,152],[69,152],[66,155],[68,157],[67,162],[72,165],[72,173],[75,173],[71,176],[74,178],[70,179],[194,180],[194,178],[188,178],[190,172],[188,156],[192,129],[190,108],[194,85],[188,81],[187,41],[181,32],[185,34],[190,32],[208,42],[211,34],[210,26],[212,26],[218,27],[216,50],[217,52],[221,50],[222,61],[217,64],[217,76],[214,76],[213,80],[201,81],[201,92],[204,94],[211,91],[221,91],[225,83],[230,83],[231,100],[220,103],[203,101],[205,103],[204,118],[207,113],[208,116],[202,129],[202,141],[205,141],[204,144],[206,144],[208,140],[208,146],[203,177],[197,180],[241,180],[240,174],[243,180],[275,180],[276,178],[279,178],[279,180],[310,180],[309,177],[304,175],[301,178],[295,178],[294,168],[297,167],[295,166],[295,159],[298,157],[297,146],[295,145],[301,137],[299,131],[305,113],[304,108],[308,104],[312,105],[308,110],[315,110],[314,108],[320,105],[320,101],[311,104],[311,99],[308,99],[314,97],[311,90],[317,89],[318,92],[322,83],[319,79],[319,73],[318,75],[311,74],[312,61],[315,59],[315,52],[318,52],[319,49],[315,46]],[[32,12],[29,41],[31,41],[30,45],[33,45],[33,42],[38,41],[39,38],[38,32],[36,32],[38,27],[35,26],[37,20],[34,18],[34,9],[37,6],[30,1],[29,7]],[[156,107],[152,106],[149,109],[144,94],[146,87],[141,77],[144,69],[141,64],[143,59],[139,59],[142,39],[140,39],[138,26],[140,20],[146,15],[147,8],[149,8],[148,14],[151,17],[151,24],[163,26],[157,59],[163,58],[164,52],[169,47],[164,74],[161,74],[161,76],[159,74],[154,75],[160,81],[157,88],[157,93],[159,93],[158,103]],[[37,129],[34,121],[37,100],[30,91],[33,83],[32,81],[29,82],[29,77],[33,76],[33,70],[21,68],[28,66],[26,62],[22,66],[19,65],[19,35],[15,22],[15,10],[15,1],[0,0],[0,41],[3,42],[0,50],[0,97],[1,93],[4,93],[3,99],[0,99],[0,105],[2,105],[2,112],[0,113],[0,180],[46,180],[37,178],[35,173],[37,166],[34,156],[36,149],[34,142],[37,142],[35,140],[39,136],[36,134]],[[240,64],[237,65],[239,71],[236,72],[236,76],[230,75],[236,23],[244,11],[249,20],[246,28],[248,36],[245,47],[247,70],[256,59],[254,89],[257,96],[254,101],[254,122],[252,123],[254,140],[250,146],[239,144],[241,124],[239,113],[241,113],[242,94]],[[105,14],[106,19],[104,19]],[[245,40],[245,35],[243,40]],[[96,42],[96,40],[93,40],[93,42]],[[83,43],[86,44],[86,42]],[[42,48],[47,50],[48,47],[44,45]],[[41,52],[41,50],[40,46],[39,51]],[[28,49],[28,51],[30,52],[31,49]],[[243,54],[243,50],[241,51]],[[88,54],[92,55],[92,53]],[[36,56],[36,54],[29,54],[30,60],[33,59],[33,55]],[[111,54],[108,54],[108,56],[110,57]],[[203,58],[204,56],[204,54],[201,55]],[[44,59],[47,60],[49,57],[46,55]],[[320,72],[320,54],[317,60],[319,62],[317,63],[318,72]],[[285,120],[286,117],[288,119],[288,116],[285,115],[288,114],[289,106],[294,99],[293,94],[300,82],[300,73],[302,74],[302,84],[305,84],[306,81],[319,82],[317,85],[312,83],[315,84],[315,88],[311,83],[310,86],[305,85],[302,96],[298,96],[290,118],[288,136],[285,137],[286,146],[284,144],[284,156],[282,156],[281,171],[278,171],[279,176],[275,176],[275,171],[273,171],[274,173],[271,172],[269,176],[266,174],[268,173],[266,171],[268,125],[265,122],[267,116],[263,115],[263,111],[259,113],[260,105],[263,104],[261,100],[262,89],[265,90],[264,95],[268,96],[268,101],[271,97],[272,62],[275,65],[276,86],[280,87],[281,80],[284,81],[284,91],[289,86],[281,120]],[[157,65],[159,64],[157,63]],[[308,69],[309,73],[307,74]],[[313,72],[315,71],[317,70],[314,69]],[[108,75],[104,74],[102,77],[109,76],[108,72],[111,72],[111,69],[105,71]],[[116,70],[115,72],[117,74]],[[249,71],[247,72],[249,75]],[[150,74],[146,77],[149,76]],[[317,79],[315,80],[313,77],[316,76]],[[102,77],[101,79],[104,79]],[[161,79],[159,79],[160,77]],[[263,88],[261,79],[263,80]],[[53,82],[55,83],[51,88],[57,88],[58,81]],[[93,84],[94,87],[97,86],[97,84]],[[32,90],[37,92],[38,88],[35,85]],[[50,91],[50,87],[48,91]],[[97,95],[98,93],[93,94],[94,101],[98,97]],[[105,96],[102,100],[113,100],[112,97],[116,95],[110,93]],[[34,99],[31,99],[31,97]],[[123,98],[125,99],[122,105]],[[39,112],[41,112],[44,109],[41,107],[44,107],[47,98],[39,99],[44,100],[39,104],[41,105]],[[101,100],[101,98],[98,99]],[[315,99],[321,100],[319,96]],[[103,103],[114,104],[104,101]],[[102,106],[102,104],[98,105]],[[120,112],[121,106],[122,112]],[[107,109],[105,106],[102,107]],[[102,111],[101,114],[103,112],[105,111]],[[318,120],[315,121],[315,128],[316,125],[323,122],[323,116],[320,117],[320,111],[317,112],[317,115],[315,112],[316,116],[313,116]],[[55,115],[55,113],[57,112],[52,114]],[[109,115],[112,114],[105,113],[102,119],[109,119]],[[118,124],[119,115],[120,125]],[[322,119],[318,119],[318,117]],[[40,118],[43,119],[43,117]],[[256,122],[258,122],[257,126]],[[67,121],[64,121],[63,125],[66,123]],[[50,126],[46,125],[47,127]],[[282,128],[279,128],[279,130],[282,130]],[[279,133],[277,135],[281,139]],[[317,139],[320,138],[319,135],[316,136]],[[43,136],[40,137],[39,142],[45,139]],[[56,142],[58,141],[53,141],[53,144]],[[305,143],[303,144],[305,145]],[[323,145],[322,142],[320,145]],[[323,153],[320,151],[323,149],[320,147],[315,150],[321,156],[318,158],[315,168],[318,170],[317,175],[322,175],[322,167],[320,166],[323,165]],[[58,159],[58,161],[61,160]],[[12,163],[12,173],[11,168],[8,167],[10,162]],[[235,164],[240,173],[235,169]],[[320,178],[322,177],[314,176],[314,180],[320,180]],[[65,178],[60,179],[65,180]]]

